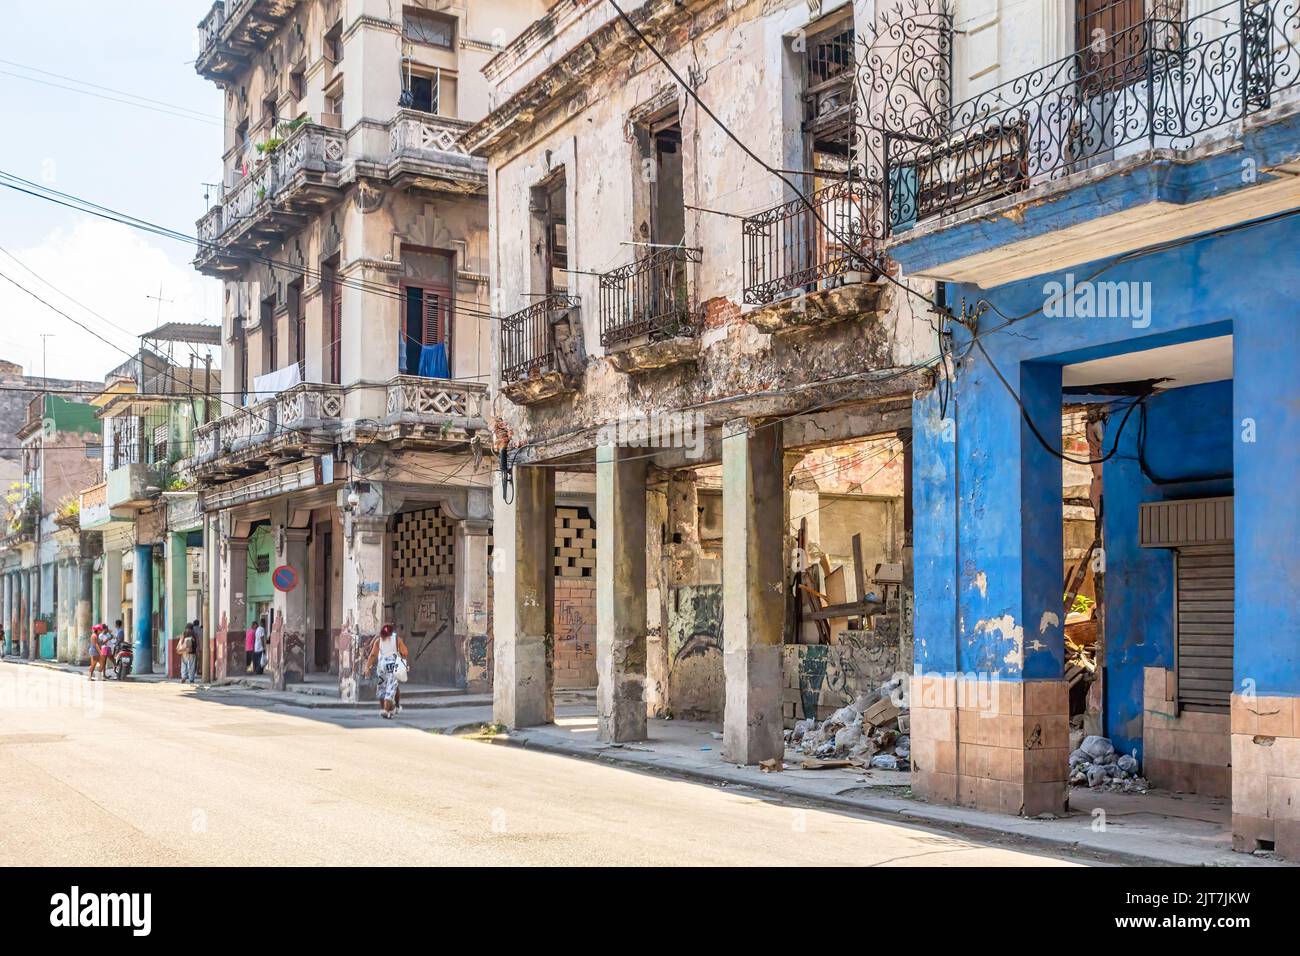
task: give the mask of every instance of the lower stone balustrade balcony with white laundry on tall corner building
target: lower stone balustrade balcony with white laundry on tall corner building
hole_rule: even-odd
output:
[[[352,418],[350,393],[384,398],[384,414]],[[194,457],[182,468],[199,479],[235,477],[269,466],[332,454],[337,445],[356,441],[402,441],[428,447],[451,447],[482,434],[488,423],[488,389],[478,382],[396,376],[387,382],[359,382],[351,388],[303,382],[199,425]],[[360,403],[360,402],[359,402]]]

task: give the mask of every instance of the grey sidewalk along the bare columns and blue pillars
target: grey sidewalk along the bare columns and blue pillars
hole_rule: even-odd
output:
[[[923,803],[911,796],[910,775],[906,773],[802,770],[798,767],[803,757],[790,750],[786,750],[786,769],[779,773],[738,767],[722,761],[719,737],[714,724],[651,719],[649,741],[604,744],[595,739],[593,710],[584,715],[558,715],[554,724],[510,731],[489,740],[715,786],[749,787],[897,822],[923,823],[970,835],[1010,836],[1074,853],[1091,851],[1127,865],[1286,865],[1268,856],[1232,852],[1230,812],[1225,801],[1161,791],[1117,795],[1074,790],[1069,817],[1026,819]],[[1104,826],[1095,829],[1095,821],[1104,821]]]

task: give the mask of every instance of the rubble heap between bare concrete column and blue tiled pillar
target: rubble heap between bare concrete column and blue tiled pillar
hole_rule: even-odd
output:
[[[900,687],[900,680],[892,680],[880,691],[859,695],[820,724],[811,717],[797,722],[793,730],[785,731],[786,747],[806,754],[807,760],[800,765],[805,770],[909,770],[911,718],[905,708],[893,702]]]

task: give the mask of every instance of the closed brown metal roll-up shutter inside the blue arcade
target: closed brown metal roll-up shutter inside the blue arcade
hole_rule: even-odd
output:
[[[1227,713],[1232,696],[1232,545],[1175,549],[1178,704]]]

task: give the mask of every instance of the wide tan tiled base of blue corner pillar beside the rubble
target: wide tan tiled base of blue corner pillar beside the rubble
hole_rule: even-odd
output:
[[[1070,758],[1063,680],[911,679],[911,788],[933,803],[1065,816]]]

